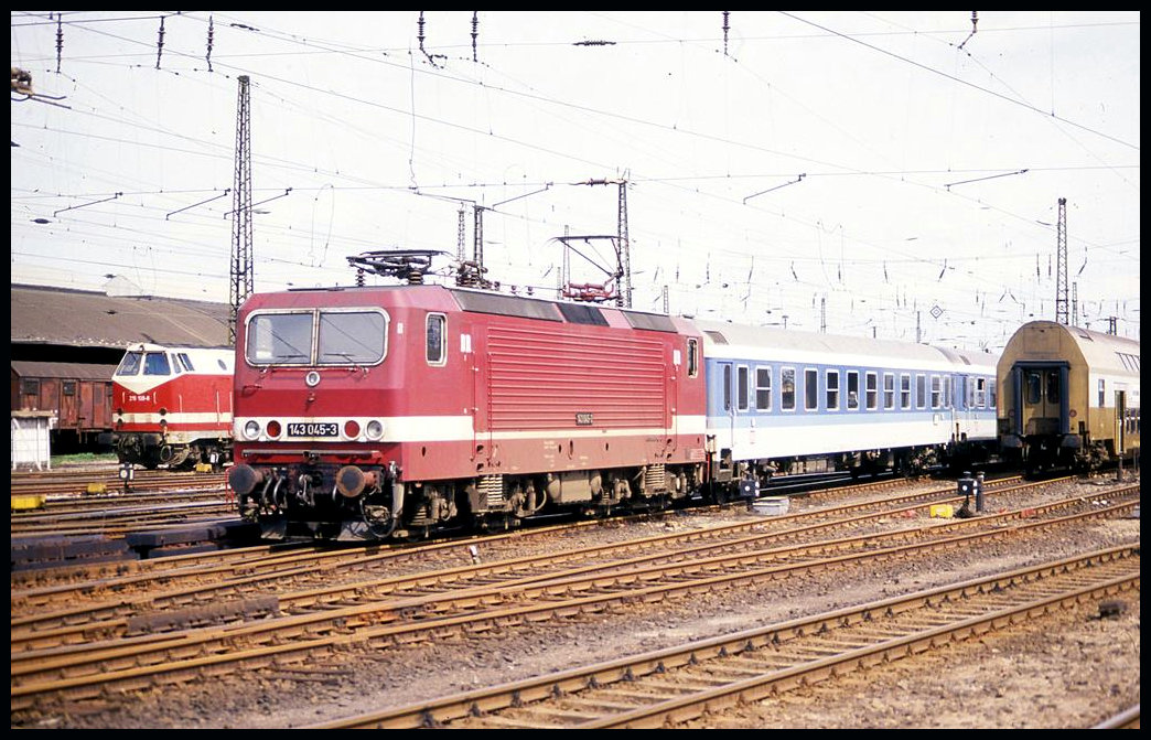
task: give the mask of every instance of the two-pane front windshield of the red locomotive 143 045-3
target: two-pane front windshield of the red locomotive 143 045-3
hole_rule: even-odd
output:
[[[252,365],[374,365],[386,337],[380,311],[260,313],[247,322],[244,356]]]

